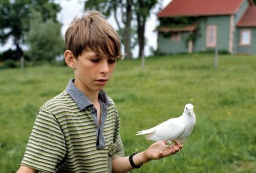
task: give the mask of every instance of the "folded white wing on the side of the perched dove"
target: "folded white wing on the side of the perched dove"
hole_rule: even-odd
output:
[[[147,140],[160,141],[160,140],[175,140],[185,130],[185,126],[179,118],[170,119],[158,126],[155,126],[154,132],[147,134]]]

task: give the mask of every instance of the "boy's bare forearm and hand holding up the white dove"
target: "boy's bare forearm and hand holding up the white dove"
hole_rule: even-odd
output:
[[[167,157],[181,150],[183,145],[176,145],[175,149],[169,145],[166,145],[166,141],[158,141],[148,147],[147,150],[133,156],[133,162],[135,165],[141,165],[147,163],[152,159],[161,159]],[[121,173],[132,170],[133,167],[129,162],[129,157],[117,157],[112,162],[112,172]]]

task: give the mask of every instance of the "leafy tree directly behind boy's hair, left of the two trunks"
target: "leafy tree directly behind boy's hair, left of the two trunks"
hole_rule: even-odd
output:
[[[88,0],[85,1],[85,10],[97,10],[109,17],[114,15],[119,33],[125,46],[126,58],[132,58],[131,54],[131,19],[132,19],[133,0]],[[121,16],[118,18],[117,16]],[[124,26],[124,27],[123,27]]]

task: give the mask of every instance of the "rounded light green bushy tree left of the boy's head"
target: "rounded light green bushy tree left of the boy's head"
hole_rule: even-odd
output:
[[[43,22],[39,12],[34,12],[33,16],[26,40],[26,44],[30,47],[28,56],[31,57],[33,64],[42,61],[53,62],[64,51],[61,24],[54,22],[53,19]]]

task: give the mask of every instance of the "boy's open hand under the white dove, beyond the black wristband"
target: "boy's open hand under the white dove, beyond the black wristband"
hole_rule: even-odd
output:
[[[148,162],[152,159],[161,159],[169,155],[177,153],[183,147],[183,144],[175,145],[173,148],[170,145],[166,145],[166,141],[158,141],[148,147],[147,150],[143,152],[144,159]]]

